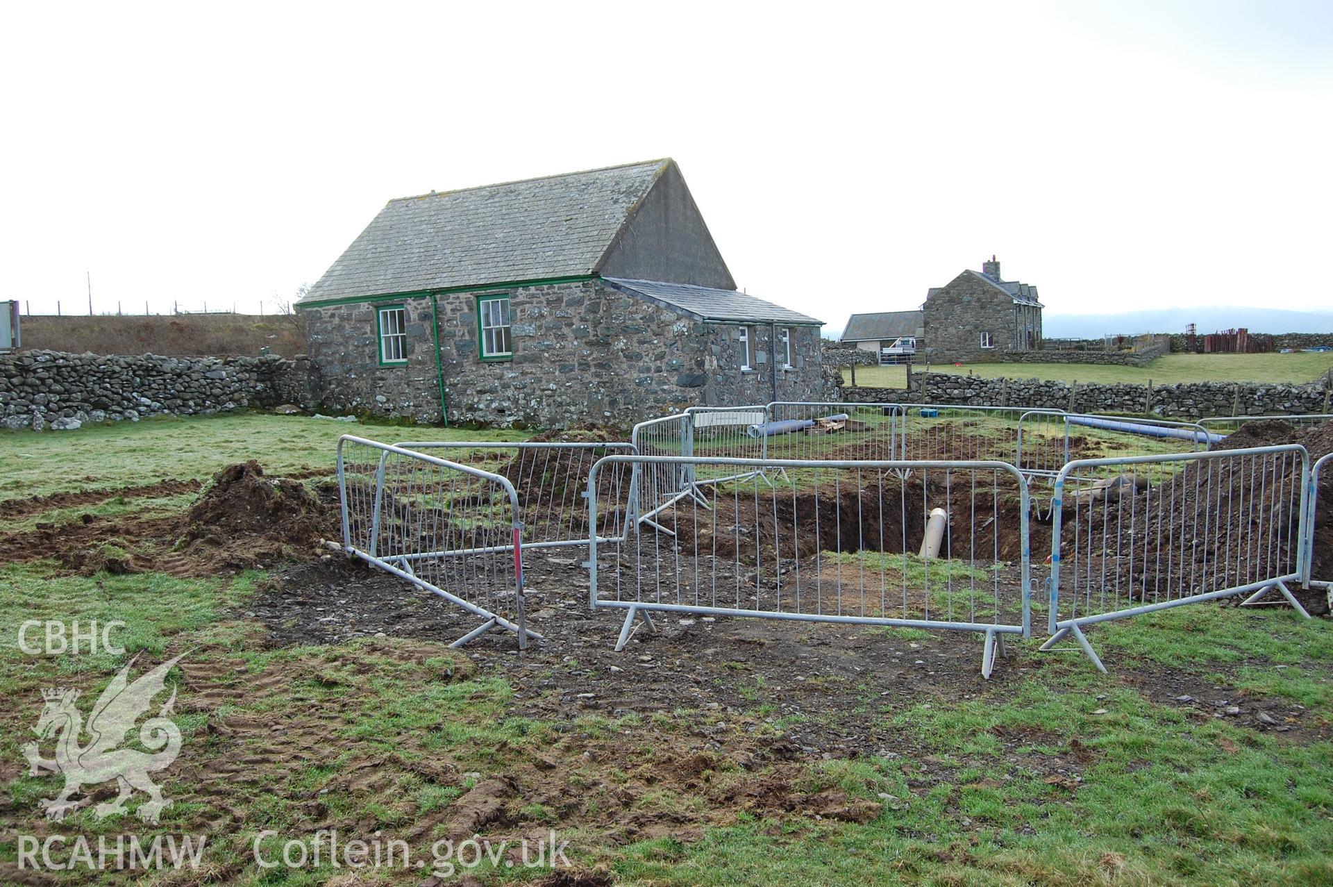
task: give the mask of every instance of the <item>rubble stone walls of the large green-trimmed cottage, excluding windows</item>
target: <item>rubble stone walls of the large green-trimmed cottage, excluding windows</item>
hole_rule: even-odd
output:
[[[476,293],[437,296],[440,371],[451,424],[564,428],[629,427],[708,403],[772,400],[766,325],[756,325],[764,363],[740,369],[736,327],[705,324],[600,281],[509,291],[511,360],[481,360]],[[376,307],[407,311],[405,364],[381,365]],[[429,299],[313,307],[307,329],[325,411],[440,420]],[[793,328],[796,367],[780,369],[780,399],[829,395],[818,331]]]

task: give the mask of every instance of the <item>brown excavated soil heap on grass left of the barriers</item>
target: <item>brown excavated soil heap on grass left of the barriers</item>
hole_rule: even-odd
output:
[[[197,484],[161,482],[116,495],[133,499],[189,488]],[[41,511],[32,503],[25,514]],[[311,492],[291,478],[265,478],[257,463],[247,462],[219,471],[184,514],[83,514],[69,523],[37,523],[33,530],[0,534],[0,560],[53,559],[67,574],[85,576],[100,571],[209,576],[313,556],[321,538],[337,536],[337,524],[336,486],[325,483],[319,494]]]

